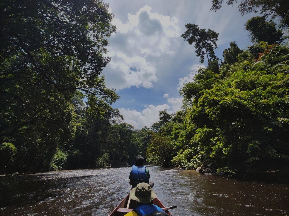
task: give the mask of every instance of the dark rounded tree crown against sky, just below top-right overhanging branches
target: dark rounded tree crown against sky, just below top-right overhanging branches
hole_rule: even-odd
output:
[[[246,22],[245,29],[250,32],[252,42],[265,41],[275,44],[283,40],[282,31],[276,30],[274,22],[266,22],[265,16],[252,17]]]

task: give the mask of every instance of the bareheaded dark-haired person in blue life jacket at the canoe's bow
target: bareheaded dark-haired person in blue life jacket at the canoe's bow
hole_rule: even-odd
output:
[[[144,158],[141,155],[135,156],[135,165],[132,165],[132,170],[129,174],[129,184],[132,188],[138,183],[145,182],[154,187],[154,182],[150,182],[150,173],[146,166],[143,166]]]

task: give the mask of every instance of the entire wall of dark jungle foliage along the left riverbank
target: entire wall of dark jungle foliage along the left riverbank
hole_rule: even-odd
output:
[[[135,135],[112,125],[119,96],[100,76],[116,31],[108,5],[1,1],[0,14],[0,173],[130,160]]]

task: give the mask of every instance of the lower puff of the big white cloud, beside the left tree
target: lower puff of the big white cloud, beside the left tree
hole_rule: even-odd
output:
[[[109,88],[129,88],[131,86],[151,88],[158,80],[154,62],[149,62],[141,56],[129,57],[121,52],[111,52],[112,61],[106,69],[105,76],[109,78]]]

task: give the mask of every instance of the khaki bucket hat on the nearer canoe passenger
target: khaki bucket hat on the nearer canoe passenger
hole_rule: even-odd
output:
[[[144,182],[137,184],[129,193],[129,198],[141,203],[150,203],[156,197],[157,194],[154,193],[151,186]]]

